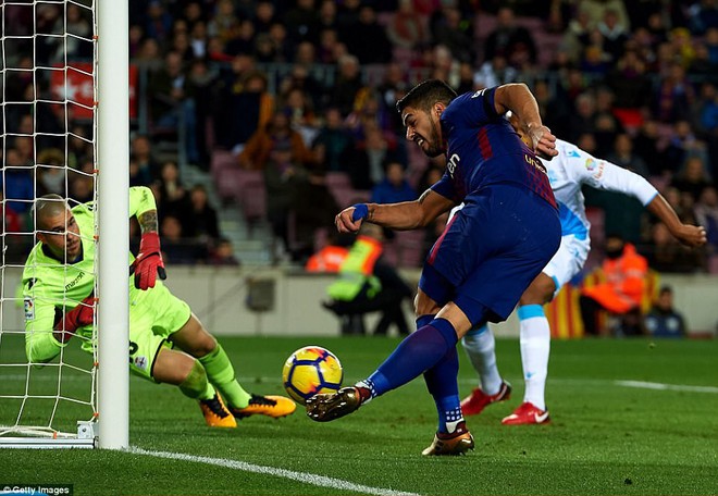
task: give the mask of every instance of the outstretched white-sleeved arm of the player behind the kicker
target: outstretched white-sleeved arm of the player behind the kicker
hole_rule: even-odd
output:
[[[589,173],[582,165],[575,168],[585,174],[586,184],[636,198],[683,245],[695,247],[706,243],[706,230],[681,222],[668,200],[645,177],[605,160],[597,163],[594,173]]]

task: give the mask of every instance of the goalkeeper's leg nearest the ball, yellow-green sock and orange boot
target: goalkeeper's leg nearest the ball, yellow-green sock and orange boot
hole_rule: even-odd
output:
[[[286,417],[294,412],[296,404],[283,396],[259,396],[247,393],[237,382],[230,357],[218,340],[202,326],[197,317],[170,335],[172,343],[196,357],[212,383],[227,401],[232,414],[242,419],[252,414]]]

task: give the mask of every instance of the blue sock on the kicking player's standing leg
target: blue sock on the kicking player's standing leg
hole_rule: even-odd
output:
[[[438,412],[438,432],[453,433],[459,422],[463,421],[459,399],[459,386],[456,376],[459,373],[459,356],[456,347],[434,367],[424,372],[426,388],[434,398]]]

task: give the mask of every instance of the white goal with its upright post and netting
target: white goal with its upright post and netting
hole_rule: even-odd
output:
[[[0,448],[127,448],[128,5],[115,0],[10,0],[0,3]],[[46,122],[55,120],[54,127]],[[13,147],[21,144],[26,153],[18,161]],[[82,156],[91,163],[73,161],[81,156],[73,154],[76,144],[85,147]],[[47,158],[46,148],[59,149],[57,160]],[[21,195],[13,175],[30,178],[32,197]],[[88,272],[97,307],[91,338],[78,335],[38,368],[25,354],[25,337],[34,332],[35,303],[48,299],[30,290],[33,283],[21,288],[20,280],[38,240],[30,207],[47,193],[50,176],[60,176],[51,193],[70,208],[87,201],[73,190],[77,177],[89,181],[95,225],[81,234],[95,243]],[[13,224],[12,206],[22,209],[22,222]],[[65,277],[75,270],[72,265],[64,265]],[[38,263],[33,270],[47,266]],[[64,281],[59,299],[74,307],[77,299],[67,296],[74,282]],[[79,351],[81,344],[91,354]]]

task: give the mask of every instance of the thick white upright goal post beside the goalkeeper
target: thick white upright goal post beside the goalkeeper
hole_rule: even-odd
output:
[[[97,37],[99,447],[129,446],[129,48],[125,1],[99,0]]]

